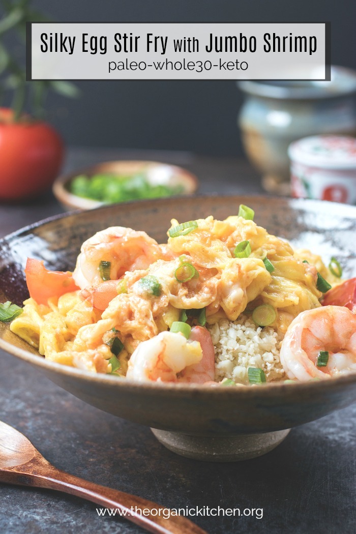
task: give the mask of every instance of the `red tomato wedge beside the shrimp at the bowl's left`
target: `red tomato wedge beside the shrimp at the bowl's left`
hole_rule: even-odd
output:
[[[79,289],[69,271],[49,271],[43,261],[27,258],[26,283],[30,297],[38,304],[47,304],[50,297],[60,297]]]

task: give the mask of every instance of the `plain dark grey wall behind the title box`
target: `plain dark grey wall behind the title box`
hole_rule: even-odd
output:
[[[331,21],[331,61],[356,67],[355,0],[35,0],[58,21]],[[233,81],[77,82],[80,100],[51,96],[68,144],[241,154]]]

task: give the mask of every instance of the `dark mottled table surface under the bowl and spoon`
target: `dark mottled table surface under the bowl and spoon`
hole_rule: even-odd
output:
[[[76,148],[68,153],[66,169],[121,158],[181,164],[200,178],[203,193],[262,192],[246,162],[183,152]],[[50,194],[23,206],[2,205],[0,233],[61,211]],[[356,531],[356,405],[292,429],[266,456],[212,464],[176,456],[148,428],[83,403],[3,351],[0,365],[1,419],[27,435],[60,469],[171,508],[197,507],[191,519],[209,534]],[[202,507],[218,506],[239,508],[241,515],[202,515]],[[54,491],[3,484],[0,532],[143,532],[123,519],[99,517],[96,508]]]

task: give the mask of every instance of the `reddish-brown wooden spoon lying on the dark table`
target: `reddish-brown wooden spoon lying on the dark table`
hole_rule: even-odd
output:
[[[155,502],[60,471],[35,449],[26,436],[2,421],[0,421],[0,482],[64,491],[96,502],[105,508],[118,508],[122,511],[122,517],[155,534],[207,534],[186,517],[170,516],[169,519],[164,519],[163,510],[167,516],[168,508]],[[136,512],[136,507],[141,510],[146,508],[151,512],[145,512],[148,513],[147,516],[141,515]],[[120,517],[120,514],[117,516]]]

